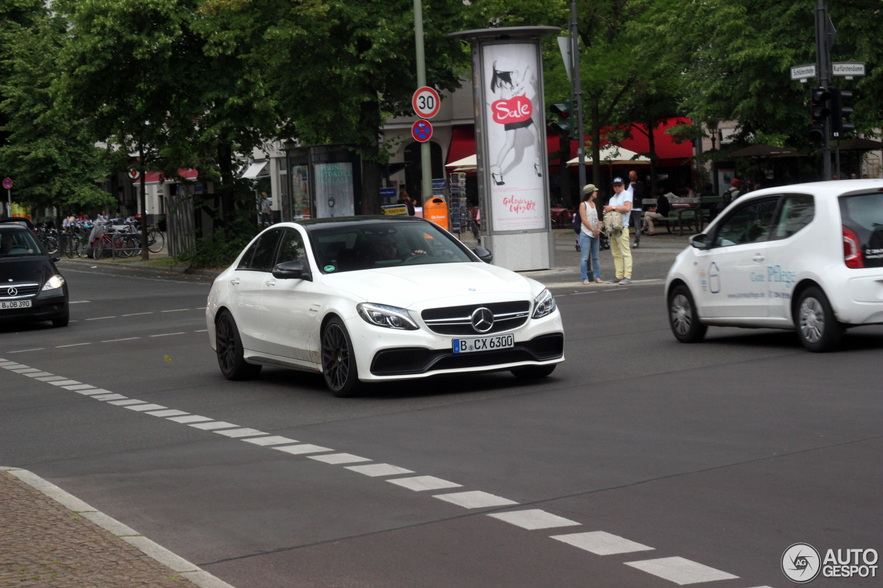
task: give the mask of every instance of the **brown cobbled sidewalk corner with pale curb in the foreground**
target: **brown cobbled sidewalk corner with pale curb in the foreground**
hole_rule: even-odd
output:
[[[0,585],[232,588],[30,471],[0,467]]]

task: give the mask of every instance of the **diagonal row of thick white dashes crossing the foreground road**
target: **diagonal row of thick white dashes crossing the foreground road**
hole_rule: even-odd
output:
[[[186,310],[186,309],[181,309]],[[204,310],[204,309],[195,309]],[[144,313],[150,314],[150,313]],[[197,331],[199,332],[199,331]],[[167,335],[183,335],[183,333],[170,333]],[[151,335],[162,336],[162,335]],[[138,337],[132,337],[138,338]],[[130,339],[119,339],[115,341],[127,341]],[[110,342],[102,342],[110,343]],[[89,344],[89,343],[79,343]],[[177,409],[169,409],[161,404],[147,403],[143,400],[127,398],[121,394],[116,394],[103,388],[95,388],[90,384],[83,384],[76,380],[69,380],[64,376],[53,375],[48,372],[41,372],[36,368],[25,366],[8,359],[0,358],[0,367],[22,375],[34,378],[35,381],[45,381],[59,388],[67,388],[72,392],[77,392],[83,396],[89,396],[96,400],[123,406],[131,411],[145,412],[149,415],[165,418],[167,420],[192,426],[207,432],[217,433],[252,443],[259,447],[267,447],[283,451],[293,456],[305,456],[325,464],[355,464],[358,462],[370,462],[371,459],[362,456],[355,456],[351,453],[329,453],[335,451],[312,443],[302,443],[300,441],[283,437],[281,435],[270,435],[258,429],[243,427],[228,423],[226,421],[218,421],[209,417],[190,414],[186,411]],[[309,455],[324,454],[324,455]],[[363,464],[363,465],[344,465],[344,468],[350,471],[360,473],[362,475],[380,478],[390,476],[400,476],[403,474],[414,473],[411,470],[391,465],[391,464]],[[450,482],[445,479],[436,478],[434,476],[412,476],[409,478],[387,479],[390,484],[408,488],[414,492],[423,492],[426,490],[442,490],[449,488],[462,487],[456,482]],[[489,494],[479,490],[454,492],[449,494],[432,494],[433,498],[455,504],[464,509],[490,509],[501,508],[517,505],[516,501],[508,498]],[[578,526],[580,523],[571,521],[563,516],[557,516],[542,509],[521,509],[511,510],[507,512],[488,513],[497,520],[503,521],[526,529],[535,531],[540,529],[553,529],[560,527]],[[611,555],[611,554],[630,554],[639,551],[650,551],[653,547],[648,547],[618,537],[605,531],[588,531],[579,533],[569,533],[564,535],[552,535],[551,539],[567,543],[573,547],[577,547],[586,552],[595,555]],[[700,582],[713,582],[716,580],[728,580],[737,578],[732,574],[713,569],[697,562],[691,562],[683,557],[666,557],[653,560],[644,560],[639,562],[625,562],[625,565],[631,568],[644,571],[653,576],[660,577],[675,584],[698,584]],[[758,588],[769,588],[768,586],[758,586]]]

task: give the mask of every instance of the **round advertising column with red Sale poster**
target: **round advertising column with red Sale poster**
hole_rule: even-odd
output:
[[[515,271],[555,265],[540,35],[559,30],[516,26],[449,34],[472,41],[484,245],[495,265]]]

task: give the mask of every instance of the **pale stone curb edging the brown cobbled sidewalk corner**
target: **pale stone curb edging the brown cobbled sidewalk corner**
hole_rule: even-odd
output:
[[[117,519],[105,515],[100,510],[93,509],[86,502],[79,500],[79,498],[77,498],[73,494],[64,492],[64,490],[46,481],[45,479],[42,479],[33,471],[5,466],[0,466],[0,471],[9,472],[11,475],[26,483],[28,486],[31,486],[35,490],[42,492],[42,494],[45,494],[51,500],[58,502],[67,509],[71,509],[79,516],[92,521],[94,524],[102,527],[102,529],[104,529],[105,531],[109,531],[117,538],[123,539],[132,547],[137,547],[144,554],[149,555],[157,562],[160,562],[167,568],[172,569],[181,577],[184,577],[190,580],[193,584],[200,586],[200,588],[234,588],[234,586],[227,584],[220,578],[212,576],[206,570],[201,569],[196,564],[186,561],[183,557],[180,557],[177,554],[173,554],[165,547],[162,547],[158,543],[147,539],[147,537],[141,535],[138,531],[135,531],[131,527],[120,523],[119,521],[117,521]]]

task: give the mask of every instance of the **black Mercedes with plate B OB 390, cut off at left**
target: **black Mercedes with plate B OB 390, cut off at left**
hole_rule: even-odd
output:
[[[67,283],[34,233],[17,223],[0,223],[0,321],[51,320],[65,327],[70,317]]]

